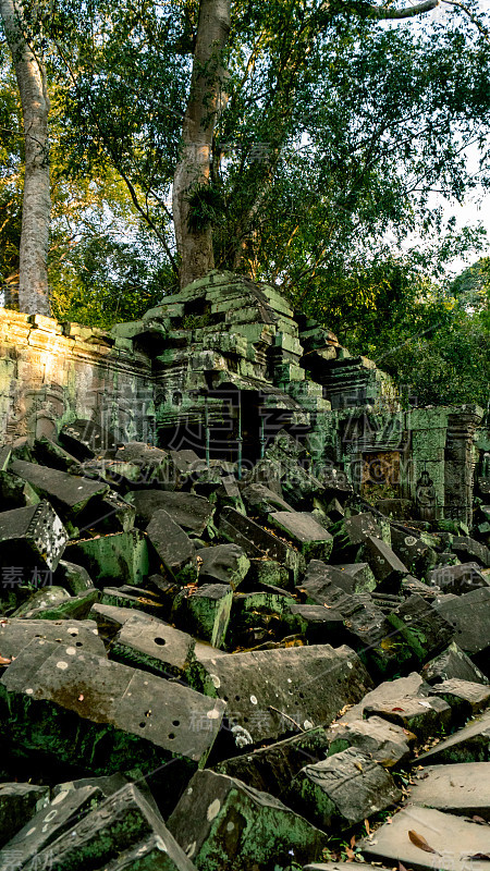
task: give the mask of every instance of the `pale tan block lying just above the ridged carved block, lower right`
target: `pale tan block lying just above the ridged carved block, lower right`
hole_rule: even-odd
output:
[[[408,743],[415,740],[415,735],[380,716],[370,716],[352,723],[333,723],[328,739],[329,756],[357,747],[384,768],[393,768],[408,759]]]

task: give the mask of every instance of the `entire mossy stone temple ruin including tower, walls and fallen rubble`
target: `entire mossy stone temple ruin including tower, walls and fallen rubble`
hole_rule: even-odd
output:
[[[231,273],[0,331],[0,871],[488,871],[482,409]]]

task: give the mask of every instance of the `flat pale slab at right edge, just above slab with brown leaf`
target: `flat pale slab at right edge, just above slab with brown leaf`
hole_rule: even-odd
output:
[[[429,765],[412,778],[413,805],[464,817],[476,814],[490,822],[490,762]]]

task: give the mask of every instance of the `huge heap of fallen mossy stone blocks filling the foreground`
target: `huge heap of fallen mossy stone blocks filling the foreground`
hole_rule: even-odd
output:
[[[482,536],[100,439],[0,451],[1,871],[489,871]]]

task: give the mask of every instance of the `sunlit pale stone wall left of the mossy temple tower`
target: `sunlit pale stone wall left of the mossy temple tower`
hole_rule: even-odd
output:
[[[102,330],[0,309],[0,442],[86,418],[151,442],[149,358]]]

